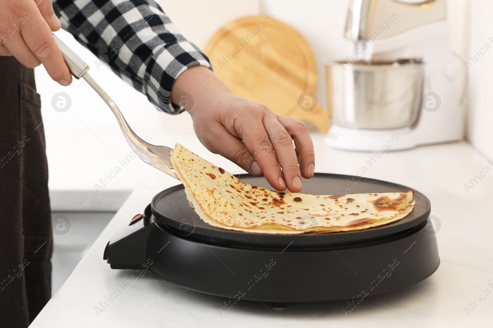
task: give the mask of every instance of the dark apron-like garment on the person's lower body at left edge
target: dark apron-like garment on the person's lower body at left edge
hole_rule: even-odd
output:
[[[48,164],[32,69],[0,56],[0,326],[27,327],[51,297]]]

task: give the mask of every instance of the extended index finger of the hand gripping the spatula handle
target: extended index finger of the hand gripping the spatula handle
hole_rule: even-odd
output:
[[[32,10],[30,16],[21,30],[24,41],[54,81],[62,86],[70,85],[72,77],[69,68],[53,38],[50,26],[39,11]],[[12,52],[10,47],[9,50]],[[16,54],[14,53],[14,55]]]

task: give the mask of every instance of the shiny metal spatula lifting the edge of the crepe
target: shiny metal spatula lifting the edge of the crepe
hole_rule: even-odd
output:
[[[62,42],[55,34],[55,41],[58,44],[58,47],[62,51],[62,54],[65,58],[65,62],[70,69],[70,73],[77,80],[83,78],[86,80],[89,85],[98,92],[98,94],[103,98],[106,104],[111,108],[111,111],[115,115],[118,124],[120,124],[120,128],[122,129],[123,135],[127,140],[130,148],[132,148],[137,156],[141,158],[144,162],[149,164],[150,166],[155,167],[158,170],[163,171],[166,174],[169,174],[173,178],[178,179],[176,177],[175,172],[173,171],[173,167],[170,163],[170,150],[173,150],[166,146],[156,146],[151,145],[145,141],[143,141],[128,125],[127,121],[123,117],[122,113],[116,107],[115,103],[111,98],[106,94],[105,90],[103,90],[96,81],[87,73],[89,70],[89,65],[82,60],[79,56],[77,56],[65,43]]]

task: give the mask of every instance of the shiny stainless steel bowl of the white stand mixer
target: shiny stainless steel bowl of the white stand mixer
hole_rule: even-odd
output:
[[[326,66],[332,123],[360,129],[406,127],[418,117],[423,62],[335,62]]]

